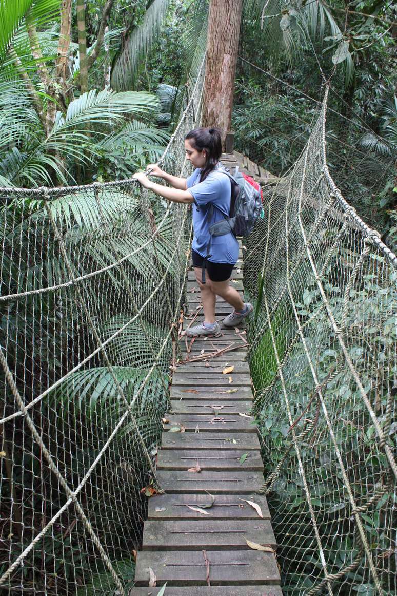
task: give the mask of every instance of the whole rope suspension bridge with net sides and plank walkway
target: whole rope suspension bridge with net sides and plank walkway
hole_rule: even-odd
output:
[[[333,181],[326,116],[327,89],[241,243],[248,326],[211,344],[183,336],[186,206],[0,189],[2,593],[395,593],[397,257]]]

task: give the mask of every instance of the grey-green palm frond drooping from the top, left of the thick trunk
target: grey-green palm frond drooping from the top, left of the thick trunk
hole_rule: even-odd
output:
[[[170,0],[154,0],[146,11],[143,22],[136,27],[115,57],[111,86],[117,90],[133,89],[138,75],[139,61],[151,48],[160,33]]]

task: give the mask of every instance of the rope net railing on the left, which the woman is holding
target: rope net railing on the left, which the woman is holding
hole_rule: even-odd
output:
[[[161,161],[190,173],[204,64]],[[126,595],[191,218],[136,181],[0,189],[1,594]]]

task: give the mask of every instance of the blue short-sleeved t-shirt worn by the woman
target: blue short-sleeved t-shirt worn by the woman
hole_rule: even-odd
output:
[[[207,178],[199,182],[201,168],[197,168],[186,180],[187,190],[193,195],[193,238],[192,249],[202,257],[207,255],[207,245],[210,241],[208,228],[215,222],[224,219],[230,212],[231,186],[229,177],[220,170],[212,170]],[[210,221],[206,221],[210,203],[214,205],[214,212]],[[234,265],[239,257],[239,244],[233,232],[223,236],[211,238],[210,248],[212,263],[230,263]]]

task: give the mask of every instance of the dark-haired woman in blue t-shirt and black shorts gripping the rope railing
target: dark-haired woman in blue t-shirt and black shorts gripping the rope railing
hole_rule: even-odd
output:
[[[195,167],[189,178],[178,178],[163,172],[160,167],[151,164],[151,175],[164,178],[171,187],[156,184],[148,179],[145,173],[136,173],[143,187],[148,188],[160,197],[175,203],[194,203],[192,243],[192,260],[196,280],[201,290],[201,302],[204,309],[204,321],[201,325],[189,328],[190,337],[221,335],[215,321],[215,301],[217,295],[223,297],[235,309],[228,315],[223,324],[225,327],[236,327],[252,311],[252,305],[243,303],[239,293],[230,286],[229,280],[239,254],[239,246],[232,231],[229,234],[211,238],[211,256],[206,259],[210,241],[208,228],[229,215],[231,186],[230,178],[218,164],[222,153],[221,131],[218,128],[196,128],[185,137],[186,159]],[[212,214],[208,213],[211,204]],[[205,266],[204,283],[202,266]]]

